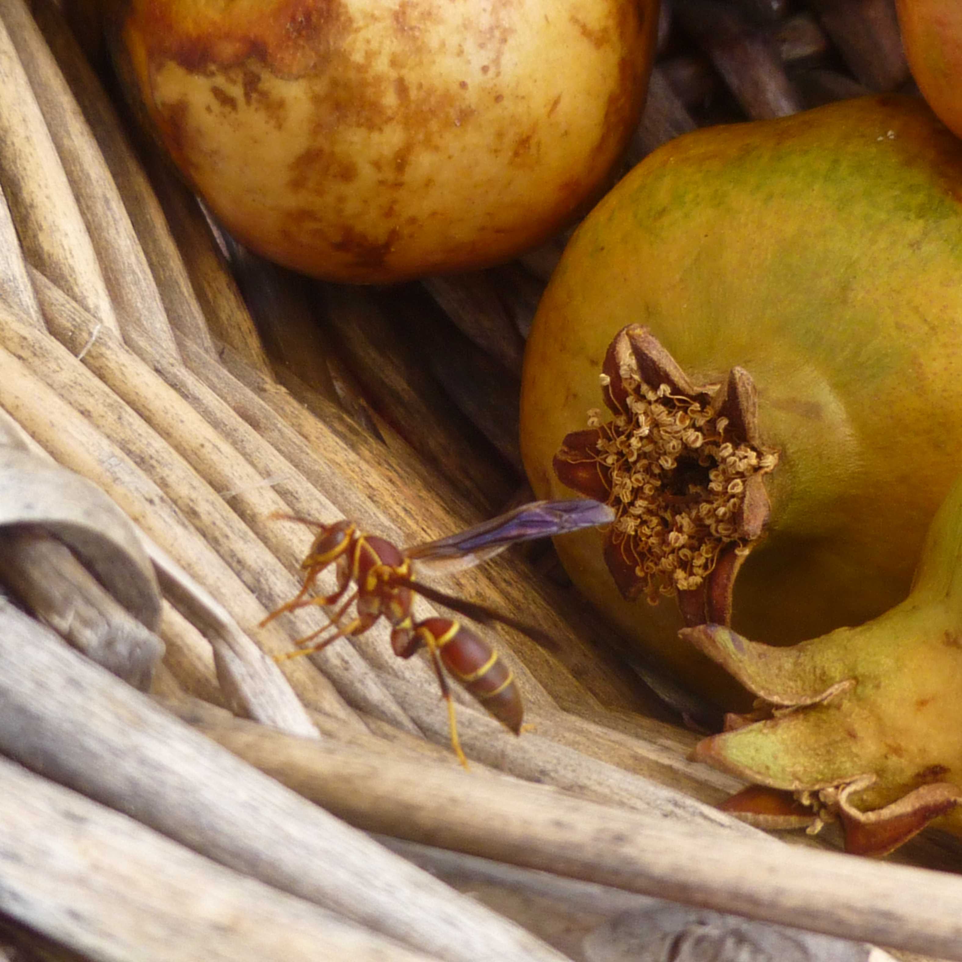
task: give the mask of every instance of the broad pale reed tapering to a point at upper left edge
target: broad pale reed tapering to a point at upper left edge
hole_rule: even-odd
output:
[[[117,330],[114,306],[37,98],[0,21],[0,183],[27,260]]]

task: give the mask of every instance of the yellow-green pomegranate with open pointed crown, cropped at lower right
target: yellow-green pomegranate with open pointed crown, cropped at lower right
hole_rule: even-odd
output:
[[[682,637],[758,696],[695,749],[757,783],[725,807],[764,827],[842,823],[884,854],[933,820],[962,834],[962,479],[929,529],[911,594],[792,647],[705,624]]]

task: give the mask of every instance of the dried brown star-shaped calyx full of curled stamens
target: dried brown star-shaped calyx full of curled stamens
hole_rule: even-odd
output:
[[[554,457],[559,480],[616,512],[604,557],[621,595],[676,595],[686,624],[726,623],[742,562],[770,515],[750,375],[696,385],[646,327],[629,324],[602,366],[613,417],[589,413]]]

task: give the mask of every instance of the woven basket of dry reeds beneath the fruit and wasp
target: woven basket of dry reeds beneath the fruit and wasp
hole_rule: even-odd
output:
[[[633,159],[720,77],[752,116],[894,87],[890,6],[679,0],[700,49],[659,63]],[[658,894],[962,959],[962,885],[933,871],[956,850],[876,864],[723,816],[737,784],[517,556],[443,585],[559,646],[486,630],[532,729],[459,695],[470,772],[385,629],[275,664],[324,618],[258,627],[310,540],[271,515],[412,544],[523,496],[511,408],[561,240],[390,302],[311,285],[218,238],[133,138],[59,6],[0,0],[0,571],[37,616],[0,601],[0,954],[587,959]]]

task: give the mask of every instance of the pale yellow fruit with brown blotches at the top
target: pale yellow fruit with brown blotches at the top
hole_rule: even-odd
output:
[[[241,241],[332,280],[510,258],[596,199],[657,0],[106,0],[120,73]]]

